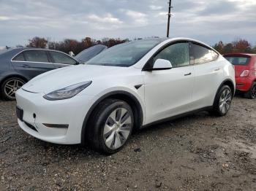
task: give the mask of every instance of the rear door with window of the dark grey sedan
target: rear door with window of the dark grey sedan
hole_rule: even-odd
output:
[[[50,63],[46,50],[24,50],[12,58],[12,66],[29,79],[56,69],[54,64]]]

